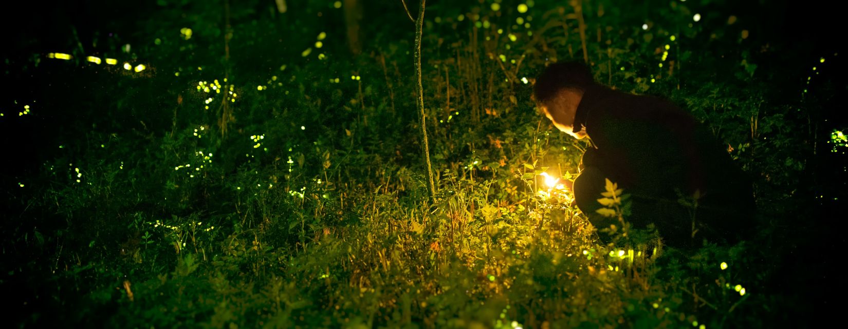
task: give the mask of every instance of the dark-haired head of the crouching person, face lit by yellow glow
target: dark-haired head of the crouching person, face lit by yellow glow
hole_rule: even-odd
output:
[[[550,64],[536,78],[533,98],[557,129],[580,139],[586,137],[586,133],[574,132],[574,115],[583,99],[583,92],[592,84],[592,72],[585,64]]]

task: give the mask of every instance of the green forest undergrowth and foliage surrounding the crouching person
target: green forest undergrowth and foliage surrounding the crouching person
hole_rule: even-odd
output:
[[[56,132],[67,147],[13,199],[37,209],[3,228],[20,255],[0,284],[31,303],[20,326],[715,328],[792,304],[760,290],[780,255],[756,243],[777,237],[663,250],[652,228],[631,229],[628,194],[607,180],[598,214],[618,224],[597,228],[613,237],[600,244],[568,187],[546,185],[568,186],[587,144],[538,115],[527,79],[586,47],[596,80],[684,105],[756,177],[760,204],[790,207],[812,133],[788,122],[814,104],[772,101],[782,90],[765,83],[758,45],[715,23],[710,2],[657,5],[648,23],[606,0],[528,1],[526,14],[433,3],[421,48],[432,199],[411,133],[414,26],[398,3],[367,3],[393,14],[363,23],[365,51],[349,55],[333,3],[157,2],[126,39],[127,60],[149,69],[80,82],[109,95],[86,109],[100,129],[69,120]],[[690,26],[697,12],[705,22]]]

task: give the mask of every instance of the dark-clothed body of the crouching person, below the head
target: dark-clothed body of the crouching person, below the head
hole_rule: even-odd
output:
[[[672,235],[691,234],[692,215],[704,237],[734,240],[731,236],[750,230],[750,183],[692,114],[661,98],[590,86],[577,107],[574,126],[575,131],[585,128],[592,142],[582,167],[593,168],[632,195],[634,225],[655,223],[670,240]],[[598,183],[598,177],[592,180],[592,185]],[[578,207],[594,213],[600,207],[595,200],[601,197],[591,194],[602,192],[603,179],[597,188],[575,184]],[[581,186],[587,191],[577,191]],[[678,200],[695,191],[700,198],[693,214]]]

